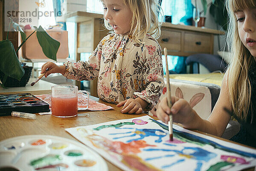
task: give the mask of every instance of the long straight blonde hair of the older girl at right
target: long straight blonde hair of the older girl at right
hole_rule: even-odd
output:
[[[255,59],[239,38],[235,12],[256,7],[256,1],[227,0],[226,5],[230,19],[227,46],[233,58],[228,69],[229,97],[234,113],[240,119],[246,120],[251,105],[251,84],[248,72]]]

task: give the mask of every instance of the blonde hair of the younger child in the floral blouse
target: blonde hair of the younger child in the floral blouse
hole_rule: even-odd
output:
[[[102,2],[104,0],[101,0]],[[158,0],[120,0],[127,6],[133,14],[131,20],[131,30],[129,35],[132,35],[135,42],[143,43],[143,38],[146,34],[157,39],[160,37],[160,26],[162,22],[158,21],[160,14],[163,20],[163,10],[158,4]],[[112,26],[104,19],[104,25],[108,30],[113,32]]]

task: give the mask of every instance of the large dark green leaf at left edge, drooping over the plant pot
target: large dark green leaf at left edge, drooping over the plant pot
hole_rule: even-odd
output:
[[[12,42],[9,40],[1,41],[0,52],[0,71],[9,77],[20,80],[25,71],[20,65],[20,61],[15,53]]]

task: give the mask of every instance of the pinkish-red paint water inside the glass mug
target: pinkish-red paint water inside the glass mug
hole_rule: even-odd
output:
[[[52,115],[57,117],[72,117],[77,115],[77,97],[55,96],[52,97]]]

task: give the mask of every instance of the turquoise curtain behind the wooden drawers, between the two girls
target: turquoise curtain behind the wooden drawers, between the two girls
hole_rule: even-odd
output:
[[[191,0],[162,0],[161,7],[164,15],[172,16],[173,24],[192,25],[193,6]],[[164,57],[163,63],[165,63]],[[165,71],[165,65],[163,66]],[[169,56],[168,67],[170,73],[186,73],[186,57]]]

